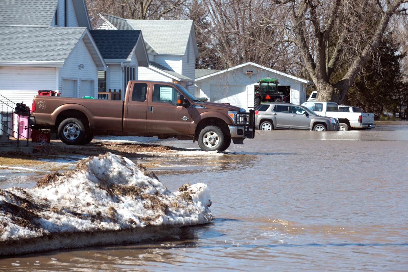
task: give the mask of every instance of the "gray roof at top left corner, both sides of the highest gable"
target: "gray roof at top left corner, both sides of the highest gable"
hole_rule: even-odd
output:
[[[72,0],[80,27],[91,29],[84,0]],[[58,0],[1,0],[0,26],[51,26]]]

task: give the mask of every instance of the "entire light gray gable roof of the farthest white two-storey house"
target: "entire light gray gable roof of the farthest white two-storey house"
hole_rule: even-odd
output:
[[[184,55],[191,36],[195,57],[198,57],[193,20],[131,20],[108,14],[100,17],[118,30],[129,27],[142,30],[150,53]]]

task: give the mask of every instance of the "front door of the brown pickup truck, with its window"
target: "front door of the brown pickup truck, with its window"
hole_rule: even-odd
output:
[[[177,94],[173,85],[154,84],[147,102],[146,131],[163,134],[186,135],[192,122],[191,107],[177,106]]]

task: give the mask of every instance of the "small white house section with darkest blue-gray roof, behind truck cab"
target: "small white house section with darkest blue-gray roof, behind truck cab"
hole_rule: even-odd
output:
[[[138,79],[140,67],[149,66],[142,32],[100,29],[90,32],[107,67],[106,72],[98,72],[98,91],[126,90],[129,80]],[[124,99],[124,92],[121,99]]]

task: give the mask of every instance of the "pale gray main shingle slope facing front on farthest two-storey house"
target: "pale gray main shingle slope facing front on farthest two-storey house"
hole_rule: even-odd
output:
[[[186,52],[193,20],[127,21],[134,29],[142,30],[144,39],[149,41],[157,53],[183,55]]]

